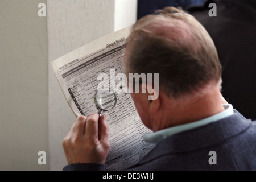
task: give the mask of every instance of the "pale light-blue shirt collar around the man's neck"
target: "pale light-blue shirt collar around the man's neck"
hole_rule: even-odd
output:
[[[183,131],[195,129],[196,127],[207,125],[211,122],[218,121],[220,119],[229,117],[230,115],[234,114],[233,106],[231,104],[225,104],[225,105],[223,105],[223,107],[225,109],[224,111],[222,111],[221,113],[212,115],[208,118],[201,119],[199,121],[195,121],[195,122],[191,122],[191,123],[187,123],[184,125],[170,127],[168,129],[163,129],[160,131],[156,131],[154,133],[146,133],[146,134],[144,134],[144,140],[149,143],[158,143],[158,142],[160,142],[160,140],[170,137],[171,135],[181,133]]]

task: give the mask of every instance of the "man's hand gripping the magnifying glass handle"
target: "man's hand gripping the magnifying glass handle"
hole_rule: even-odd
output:
[[[62,145],[68,164],[105,163],[110,149],[106,115],[77,117]]]

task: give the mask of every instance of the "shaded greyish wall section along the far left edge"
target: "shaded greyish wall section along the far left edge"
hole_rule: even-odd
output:
[[[48,155],[45,0],[0,1],[0,170],[45,170]]]

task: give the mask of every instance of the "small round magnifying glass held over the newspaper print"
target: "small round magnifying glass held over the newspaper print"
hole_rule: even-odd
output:
[[[117,104],[117,96],[113,89],[97,89],[94,94],[94,103],[98,109],[98,114],[100,117],[104,111],[113,109]]]

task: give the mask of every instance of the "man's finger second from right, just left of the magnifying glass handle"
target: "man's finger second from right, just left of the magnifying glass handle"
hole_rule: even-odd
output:
[[[98,139],[98,118],[97,113],[91,114],[85,123],[85,137],[96,140]]]

